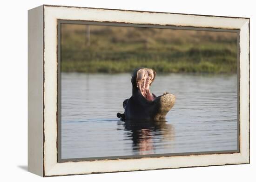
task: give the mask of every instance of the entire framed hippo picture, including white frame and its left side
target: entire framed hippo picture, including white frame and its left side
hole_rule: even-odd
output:
[[[249,18],[28,11],[28,170],[249,163]]]

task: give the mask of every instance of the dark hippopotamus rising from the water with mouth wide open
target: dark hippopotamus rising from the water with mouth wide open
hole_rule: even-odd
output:
[[[154,82],[153,69],[135,69],[132,75],[132,96],[123,101],[124,113],[117,113],[121,119],[162,119],[175,104],[175,95],[164,92],[160,96],[151,93]]]

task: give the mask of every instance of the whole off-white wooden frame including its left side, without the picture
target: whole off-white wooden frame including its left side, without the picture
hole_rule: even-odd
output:
[[[238,33],[238,149],[231,152],[61,160],[58,32],[61,22]],[[249,163],[249,18],[42,5],[28,11],[28,171],[64,176]]]

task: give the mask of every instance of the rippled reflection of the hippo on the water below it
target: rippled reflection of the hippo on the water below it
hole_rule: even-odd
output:
[[[119,122],[127,131],[127,138],[133,142],[133,151],[139,155],[154,154],[157,144],[166,143],[163,147],[172,147],[174,140],[174,126],[166,119],[157,120],[123,120]]]

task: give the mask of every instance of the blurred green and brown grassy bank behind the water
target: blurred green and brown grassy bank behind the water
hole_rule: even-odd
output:
[[[62,25],[61,71],[236,73],[236,33]]]

